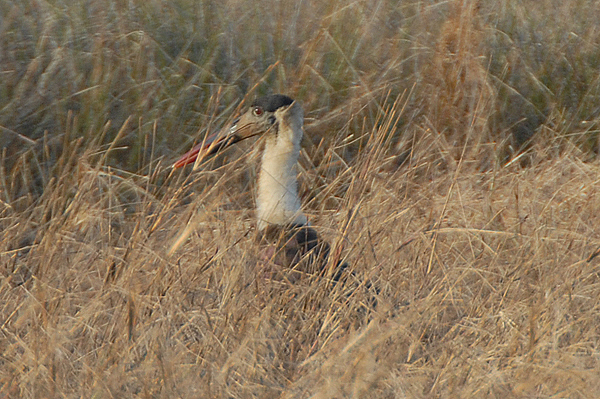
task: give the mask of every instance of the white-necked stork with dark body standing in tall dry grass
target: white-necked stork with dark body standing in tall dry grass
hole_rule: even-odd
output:
[[[205,139],[181,156],[173,167],[197,163],[235,143],[262,137],[264,149],[256,185],[257,240],[271,245],[267,254],[274,262],[301,273],[328,274],[336,283],[344,278],[348,265],[336,260],[326,270],[330,245],[311,227],[298,195],[297,163],[303,121],[301,105],[287,95],[260,97],[246,107],[226,134],[217,133]]]

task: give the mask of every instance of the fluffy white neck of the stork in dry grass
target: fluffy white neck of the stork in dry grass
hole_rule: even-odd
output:
[[[296,126],[301,129],[301,126]],[[302,213],[298,197],[298,180],[296,163],[300,154],[300,141],[292,137],[302,138],[302,131],[283,131],[293,129],[280,125],[275,137],[268,137],[262,156],[258,176],[258,193],[256,213],[258,229],[269,224],[306,224],[306,216]]]

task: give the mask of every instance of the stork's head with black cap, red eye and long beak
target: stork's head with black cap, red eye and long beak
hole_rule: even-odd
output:
[[[232,144],[255,136],[266,140],[286,142],[299,146],[302,140],[304,114],[300,104],[283,94],[272,94],[256,99],[245,112],[227,129],[206,138],[185,153],[175,164],[180,168],[195,162],[198,157],[215,154]]]

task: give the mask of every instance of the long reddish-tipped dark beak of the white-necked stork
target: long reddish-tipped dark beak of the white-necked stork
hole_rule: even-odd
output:
[[[218,153],[232,144],[256,136],[257,133],[252,129],[252,125],[244,121],[244,119],[244,117],[239,118],[226,132],[220,131],[208,136],[201,143],[198,143],[194,148],[183,154],[181,158],[173,164],[173,168],[182,168],[185,165],[194,162],[197,164],[198,162],[196,160],[198,160],[198,158],[200,158],[200,161],[207,156]]]

